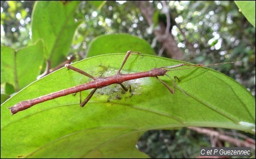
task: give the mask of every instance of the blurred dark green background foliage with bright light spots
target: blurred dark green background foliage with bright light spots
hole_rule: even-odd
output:
[[[13,49],[31,45],[34,3],[1,1],[1,45]],[[166,24],[162,3],[154,1],[152,6],[155,27],[161,22]],[[236,79],[255,96],[255,28],[236,4],[233,1],[170,1],[168,6],[170,32],[184,52],[183,61],[204,64],[242,61],[235,67],[217,65],[214,69]],[[81,1],[74,18],[81,24],[69,52],[77,55],[77,61],[85,57],[90,42],[100,35],[128,33],[149,43],[155,38],[136,2]],[[161,47],[157,42],[153,49],[158,53]],[[195,157],[199,144],[210,146],[209,137],[182,128],[147,132],[138,147],[153,158],[175,158]]]

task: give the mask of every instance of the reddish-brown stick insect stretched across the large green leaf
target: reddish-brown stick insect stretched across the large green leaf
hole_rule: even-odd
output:
[[[68,94],[73,94],[73,93],[77,93],[80,92],[80,106],[84,107],[86,105],[86,103],[90,100],[90,98],[92,98],[93,94],[96,92],[97,89],[99,88],[103,88],[106,87],[108,85],[112,85],[112,84],[119,84],[121,85],[121,87],[127,92],[129,89],[127,89],[125,87],[125,85],[123,85],[122,83],[124,81],[128,81],[128,80],[134,80],[134,79],[140,79],[140,78],[147,78],[147,77],[155,77],[156,79],[158,79],[160,81],[160,83],[162,83],[172,94],[175,93],[175,87],[176,87],[176,80],[180,81],[179,78],[177,78],[177,76],[174,76],[174,83],[172,88],[166,84],[163,80],[159,79],[158,76],[168,76],[166,73],[168,71],[171,70],[167,70],[167,69],[172,69],[172,68],[176,68],[176,67],[181,67],[181,66],[193,66],[193,67],[204,67],[206,65],[202,65],[202,64],[185,64],[185,63],[180,63],[174,66],[167,66],[167,67],[160,67],[160,68],[153,68],[150,71],[144,71],[144,72],[137,72],[137,73],[133,73],[133,74],[122,74],[121,70],[123,68],[123,66],[125,65],[128,57],[130,54],[135,53],[135,54],[140,54],[139,52],[135,52],[135,51],[127,51],[125,58],[123,59],[122,65],[119,68],[119,70],[117,71],[117,74],[113,75],[113,76],[108,76],[108,77],[94,77],[88,73],[86,73],[85,71],[80,70],[79,68],[73,67],[69,64],[66,64],[65,67],[67,67],[70,70],[79,72],[82,75],[87,76],[88,78],[92,79],[93,81],[90,81],[88,83],[84,83],[81,85],[77,85],[75,87],[72,88],[68,88],[68,89],[63,89],[61,91],[58,92],[53,92],[50,94],[46,94],[44,96],[38,97],[38,98],[34,98],[31,100],[26,100],[26,101],[21,101],[18,104],[11,106],[9,109],[11,110],[12,115],[18,113],[19,111],[22,110],[26,110],[28,108],[30,108],[31,106],[34,106],[36,104],[39,104],[41,102],[45,102],[48,100],[52,100],[54,98],[58,98],[61,96],[67,96]],[[234,63],[234,62],[227,62],[227,63]],[[218,64],[213,64],[213,65],[218,65]],[[170,76],[168,76],[168,78],[170,78]],[[85,98],[85,100],[82,102],[81,101],[81,91],[85,91],[88,89],[92,89],[92,92],[89,93],[89,95]]]

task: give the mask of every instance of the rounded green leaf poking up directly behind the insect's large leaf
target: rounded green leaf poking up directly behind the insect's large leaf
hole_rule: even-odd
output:
[[[142,38],[127,34],[113,34],[95,38],[89,46],[87,57],[117,52],[126,53],[128,50],[155,54],[150,44]]]

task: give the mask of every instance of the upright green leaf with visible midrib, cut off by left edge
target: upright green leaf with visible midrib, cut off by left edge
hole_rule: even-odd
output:
[[[1,46],[1,83],[14,85],[19,91],[40,74],[43,64],[43,42],[19,50]]]

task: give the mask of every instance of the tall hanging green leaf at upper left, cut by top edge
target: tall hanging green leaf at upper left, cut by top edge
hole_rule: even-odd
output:
[[[32,12],[32,40],[43,39],[51,67],[68,55],[77,26],[73,15],[80,1],[37,1]]]

